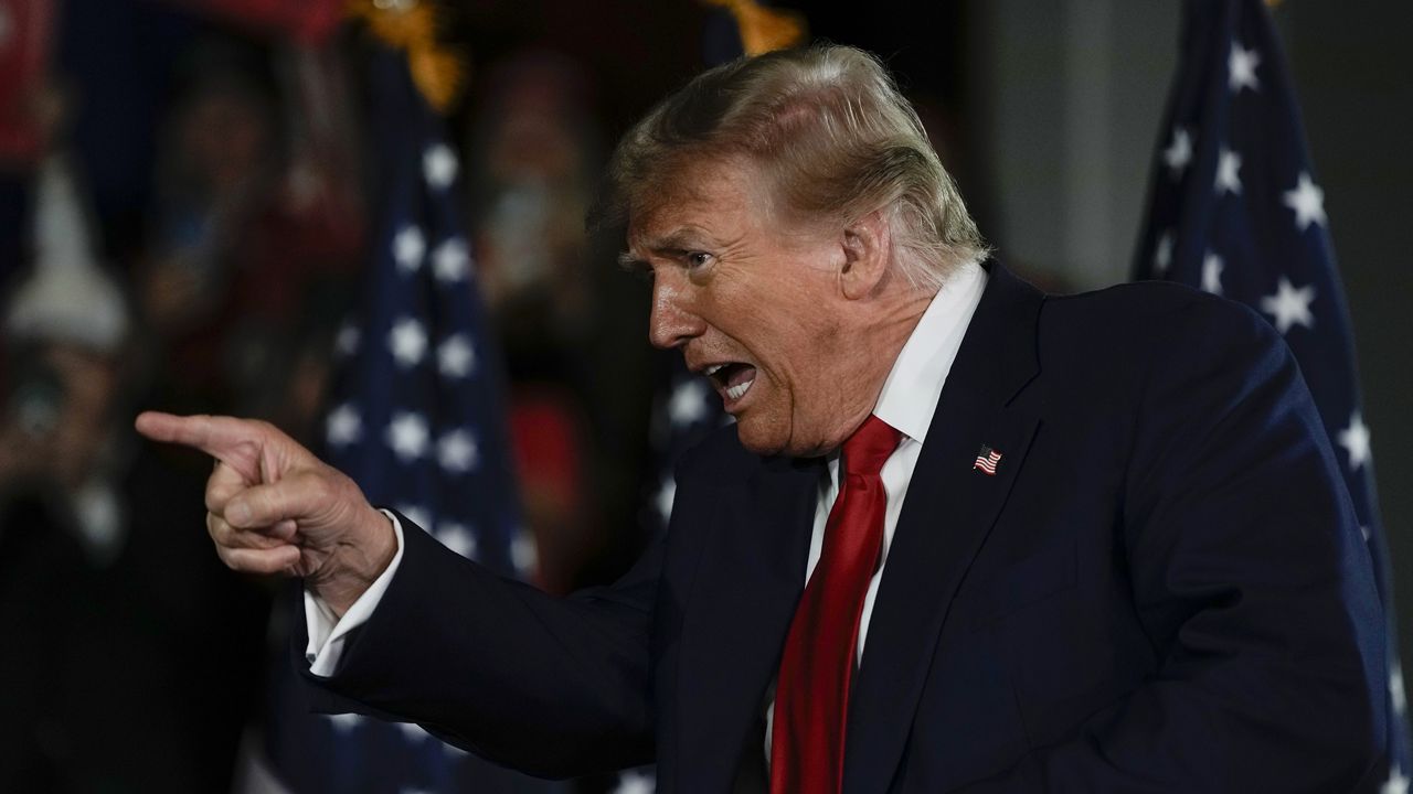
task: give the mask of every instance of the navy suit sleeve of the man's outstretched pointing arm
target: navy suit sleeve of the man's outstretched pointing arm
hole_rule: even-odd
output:
[[[415,721],[540,777],[651,760],[649,632],[661,544],[615,586],[557,599],[400,519],[403,564],[333,675],[312,675],[305,639],[292,637],[315,709]]]

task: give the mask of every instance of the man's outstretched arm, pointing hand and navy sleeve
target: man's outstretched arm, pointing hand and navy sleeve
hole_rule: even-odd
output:
[[[342,615],[397,554],[391,523],[357,485],[270,424],[146,413],[137,429],[216,459],[206,526],[237,571],[302,576]],[[545,777],[651,760],[656,554],[613,588],[555,599],[401,526],[401,567],[333,675],[297,661],[318,711],[418,722]],[[302,657],[304,620],[294,624]]]

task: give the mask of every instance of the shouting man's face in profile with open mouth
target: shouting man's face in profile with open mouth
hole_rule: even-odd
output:
[[[690,167],[677,184],[629,223],[629,257],[653,277],[650,340],[711,379],[747,449],[834,449],[877,397],[845,333],[842,233],[773,220],[746,165]]]

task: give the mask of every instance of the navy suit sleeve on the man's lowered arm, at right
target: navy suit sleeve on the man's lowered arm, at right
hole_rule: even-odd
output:
[[[983,793],[1371,791],[1383,615],[1299,367],[1197,301],[1149,356],[1121,506],[1143,685]]]

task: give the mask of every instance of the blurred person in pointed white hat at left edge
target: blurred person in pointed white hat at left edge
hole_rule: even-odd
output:
[[[266,596],[206,564],[199,511],[162,496],[203,463],[134,444],[124,288],[65,160],[40,174],[32,266],[3,315],[0,791],[220,790]],[[232,684],[191,672],[206,665]]]

